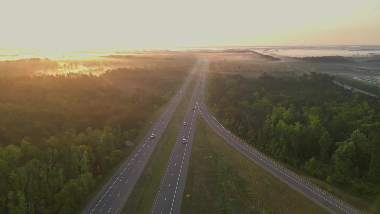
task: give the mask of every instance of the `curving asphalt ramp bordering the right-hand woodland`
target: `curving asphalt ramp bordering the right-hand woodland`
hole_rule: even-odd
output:
[[[205,80],[204,72],[202,73],[202,75]],[[270,172],[283,182],[285,182],[285,184],[288,184],[290,187],[297,190],[302,195],[314,201],[327,211],[334,214],[361,213],[356,209],[350,207],[349,205],[345,204],[344,202],[332,197],[328,193],[306,182],[305,180],[301,179],[300,177],[288,171],[287,169],[284,169],[277,163],[274,163],[273,161],[269,160],[264,155],[261,155],[261,153],[252,149],[252,147],[240,141],[239,139],[237,139],[237,137],[235,137],[233,134],[227,131],[222,125],[220,125],[220,123],[217,120],[215,120],[214,117],[212,117],[210,112],[207,110],[206,105],[204,104],[204,82],[205,81],[203,81],[203,85],[201,85],[202,96],[201,99],[198,101],[198,105],[200,107],[199,111],[203,115],[203,118],[204,120],[206,120],[208,125],[211,126],[223,139],[225,139],[235,149],[243,153],[253,162],[258,164],[259,166],[261,166],[266,171]]]

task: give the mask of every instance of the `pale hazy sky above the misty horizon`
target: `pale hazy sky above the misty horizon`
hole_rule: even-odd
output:
[[[4,0],[0,47],[380,45],[380,0]]]

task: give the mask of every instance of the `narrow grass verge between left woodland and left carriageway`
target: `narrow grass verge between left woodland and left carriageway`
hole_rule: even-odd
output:
[[[194,66],[195,66],[195,64],[194,64]],[[191,72],[192,69],[193,69],[193,67],[190,68],[189,72]],[[185,80],[183,80],[178,86],[179,87],[182,86],[184,81]],[[169,98],[169,101],[171,101],[171,99],[173,99],[173,97],[175,95],[176,95],[176,93],[173,93],[173,95]],[[133,139],[133,142],[135,142],[135,144],[132,147],[128,147],[128,148],[123,150],[123,157],[120,158],[119,162],[116,163],[112,169],[110,169],[105,175],[103,175],[103,177],[100,181],[97,181],[95,186],[89,191],[89,195],[87,195],[87,197],[84,198],[84,200],[82,200],[81,204],[78,204],[78,207],[76,208],[76,210],[73,213],[81,214],[83,212],[83,210],[86,209],[87,205],[99,193],[101,188],[103,188],[103,186],[115,174],[115,172],[120,168],[120,166],[124,163],[124,161],[127,160],[127,158],[133,152],[133,150],[135,150],[137,145],[142,141],[142,139],[145,137],[146,133],[148,133],[149,129],[152,128],[152,125],[157,120],[157,118],[160,117],[161,113],[165,110],[165,108],[168,104],[169,104],[169,102],[162,105],[161,107],[156,109],[154,112],[152,112],[152,116],[149,118],[149,120],[147,120],[143,124],[141,130],[139,131],[139,133],[137,134],[135,139]]]

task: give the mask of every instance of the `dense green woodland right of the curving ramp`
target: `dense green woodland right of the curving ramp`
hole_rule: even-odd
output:
[[[380,193],[380,101],[334,77],[210,74],[222,123],[275,159],[358,193]]]

